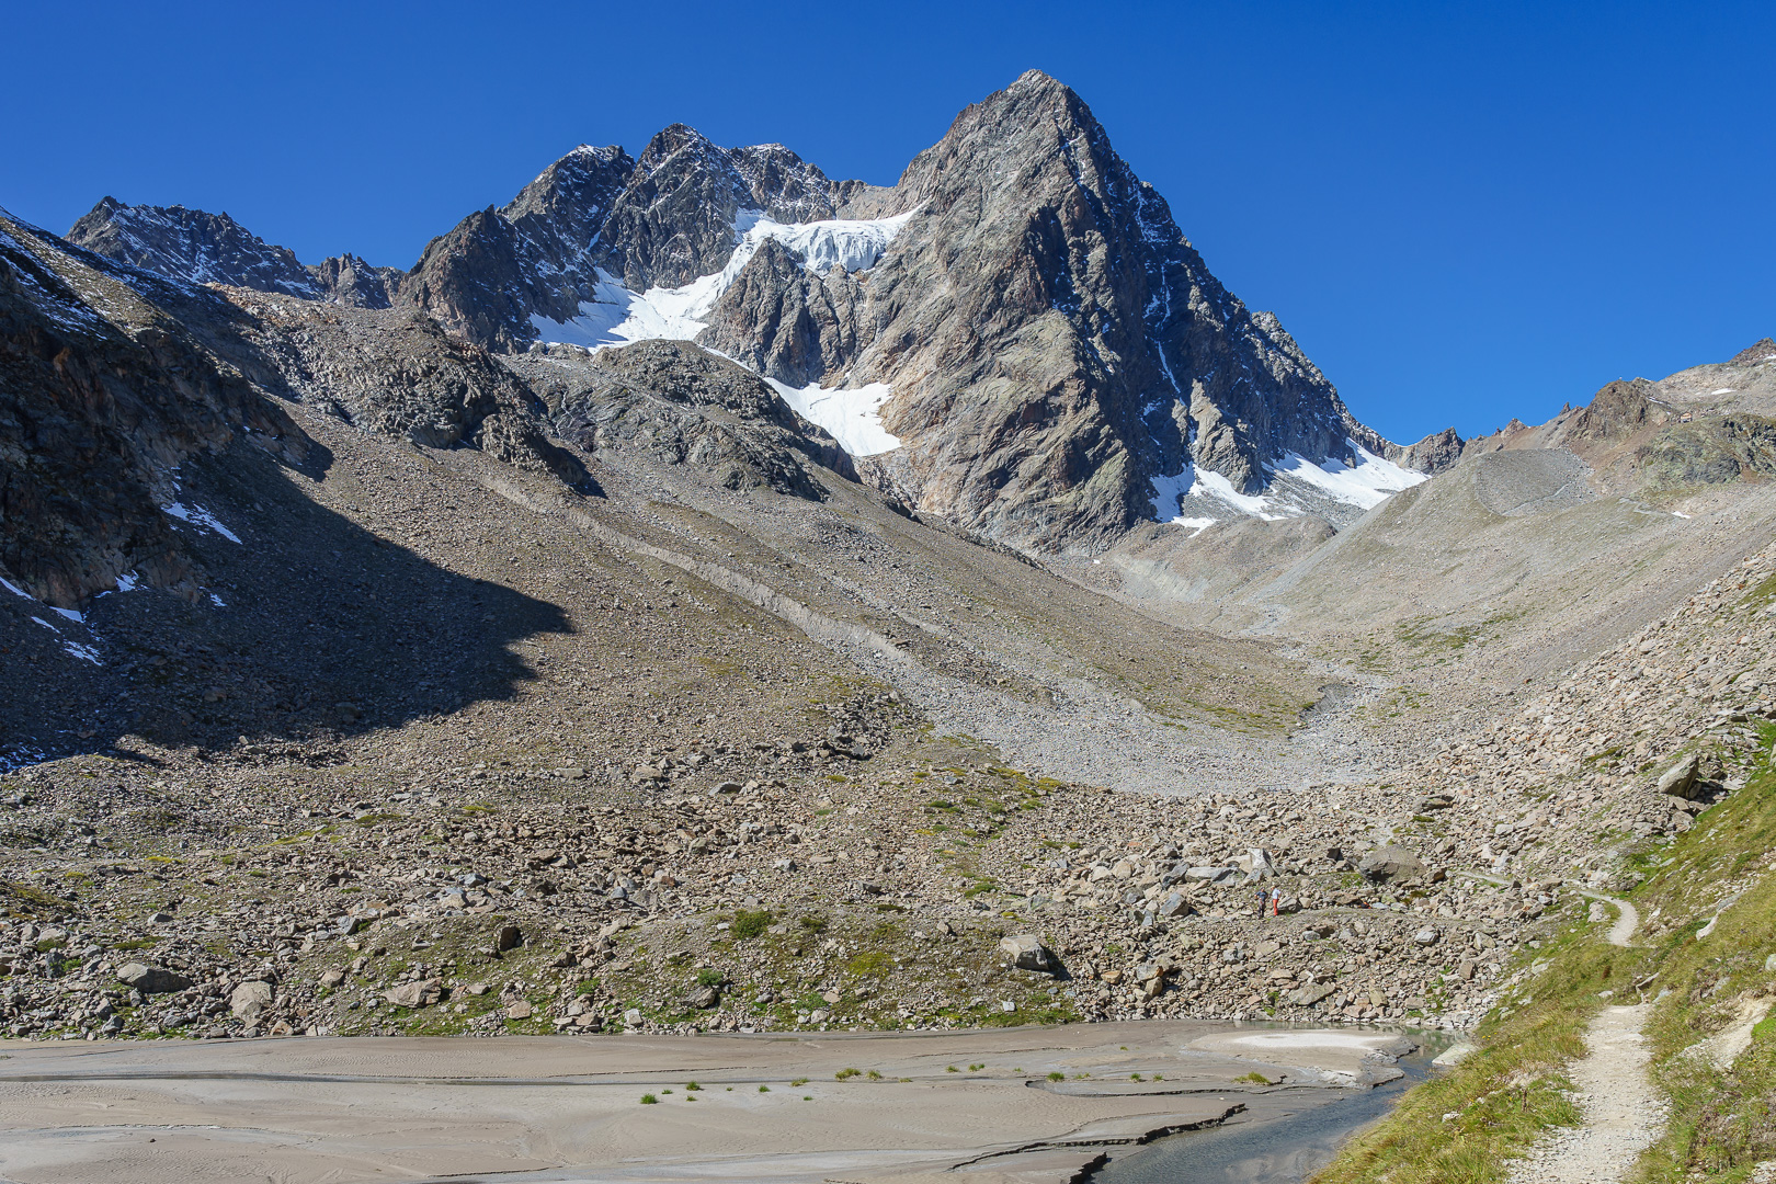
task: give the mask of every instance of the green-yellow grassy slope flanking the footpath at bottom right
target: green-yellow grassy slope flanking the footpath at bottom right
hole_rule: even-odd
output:
[[[1481,1049],[1408,1092],[1314,1184],[1506,1179],[1510,1159],[1547,1129],[1579,1122],[1566,1065],[1584,1054],[1606,991],[1657,999],[1646,1026],[1652,1077],[1671,1099],[1664,1136],[1630,1179],[1740,1184],[1776,1161],[1776,1015],[1751,1030],[1728,1069],[1693,1051],[1776,996],[1776,877],[1762,875],[1776,866],[1772,742],[1776,728],[1765,728],[1746,788],[1634,859],[1645,875],[1627,893],[1645,918],[1636,948],[1607,944],[1609,920],[1584,920],[1588,902],[1568,896],[1543,946],[1524,951],[1524,983],[1481,1022]]]

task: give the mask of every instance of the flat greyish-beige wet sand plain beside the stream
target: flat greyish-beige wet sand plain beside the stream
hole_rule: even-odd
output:
[[[0,1042],[0,1179],[1041,1184],[1234,1113],[1350,1097],[1357,1033],[1261,1056],[1227,1033]],[[1282,1085],[1236,1081],[1257,1063]]]

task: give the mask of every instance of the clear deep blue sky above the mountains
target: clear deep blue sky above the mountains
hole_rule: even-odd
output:
[[[0,204],[408,266],[668,122],[892,183],[1028,67],[1398,440],[1776,334],[1769,4],[20,4]]]

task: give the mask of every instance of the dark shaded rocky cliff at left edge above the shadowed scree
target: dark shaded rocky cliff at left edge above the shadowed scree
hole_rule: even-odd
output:
[[[240,438],[284,460],[307,437],[192,337],[229,307],[0,211],[0,568],[59,607],[137,573],[202,580],[163,506],[178,465]]]

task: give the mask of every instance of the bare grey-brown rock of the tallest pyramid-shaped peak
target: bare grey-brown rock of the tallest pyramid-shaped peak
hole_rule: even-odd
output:
[[[702,339],[790,383],[886,382],[904,446],[867,470],[924,509],[1090,547],[1154,515],[1154,478],[1213,470],[1250,495],[1291,453],[1399,453],[1046,75],[964,110],[886,208],[911,217],[865,275],[835,293],[760,250]]]

